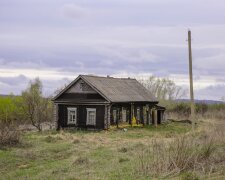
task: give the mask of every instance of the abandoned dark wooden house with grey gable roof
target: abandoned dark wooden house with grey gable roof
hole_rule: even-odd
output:
[[[165,108],[136,79],[79,75],[53,98],[56,127],[160,124]]]

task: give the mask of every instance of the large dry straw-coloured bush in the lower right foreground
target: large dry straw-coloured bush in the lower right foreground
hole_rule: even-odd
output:
[[[225,153],[219,154],[221,149],[217,142],[210,136],[182,136],[170,143],[154,140],[148,149],[139,154],[137,171],[140,175],[155,177],[194,170],[210,173],[216,163],[225,162]]]

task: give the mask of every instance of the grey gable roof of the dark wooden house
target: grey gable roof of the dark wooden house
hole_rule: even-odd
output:
[[[80,78],[109,102],[158,102],[158,100],[136,79],[92,75],[79,75],[54,97],[53,100],[56,100]]]

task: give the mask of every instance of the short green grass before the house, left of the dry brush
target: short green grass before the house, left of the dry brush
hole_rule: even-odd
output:
[[[149,179],[135,172],[138,153],[152,139],[170,140],[191,125],[126,128],[25,133],[22,145],[0,149],[0,179]]]

